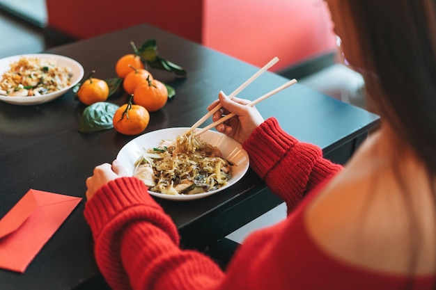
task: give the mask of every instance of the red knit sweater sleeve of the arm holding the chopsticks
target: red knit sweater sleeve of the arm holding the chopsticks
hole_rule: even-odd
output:
[[[243,144],[250,166],[272,193],[288,205],[288,211],[305,193],[332,177],[342,166],[322,158],[316,145],[301,143],[283,131],[275,118],[265,120]]]

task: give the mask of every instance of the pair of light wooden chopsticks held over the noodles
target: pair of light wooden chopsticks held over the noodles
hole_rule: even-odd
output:
[[[233,99],[233,97],[238,95],[242,90],[244,90],[244,88],[247,88],[247,86],[249,86],[249,84],[251,82],[253,82],[255,79],[257,79],[258,76],[260,76],[260,74],[263,74],[270,67],[272,67],[272,65],[277,63],[277,61],[279,61],[279,58],[277,58],[277,57],[272,58],[272,60],[269,63],[267,63],[260,70],[258,70],[258,72],[256,72],[256,74],[253,74],[253,76],[251,76],[249,79],[247,79],[247,81],[244,81],[244,83],[242,83],[242,85],[239,86],[239,88],[237,88],[230,95],[228,95],[228,97],[230,99]],[[247,104],[247,106],[254,106],[255,104],[258,104],[259,102],[262,102],[264,99],[267,99],[268,97],[271,97],[272,95],[275,95],[277,92],[280,92],[281,90],[283,90],[285,88],[288,88],[289,86],[292,86],[295,83],[297,83],[297,80],[296,79],[292,79],[292,80],[288,81],[287,83],[284,83],[283,85],[279,86],[278,88],[275,88],[274,90],[271,90],[270,92],[267,92],[262,97],[258,97],[253,102],[250,102],[249,104]],[[213,115],[216,111],[218,111],[220,108],[221,108],[221,104],[218,104],[217,106],[215,106],[215,108],[213,108],[211,111],[206,113],[200,120],[198,120],[195,124],[193,124],[192,127],[189,128],[185,134],[189,133],[190,131],[194,131],[196,128],[198,128],[198,126],[203,124],[203,122],[205,122],[205,120],[208,120],[208,118],[211,115]],[[232,118],[233,116],[235,116],[235,113],[230,113],[230,114],[224,116],[223,118],[217,120],[216,122],[213,122],[212,124],[209,124],[208,126],[204,127],[200,131],[196,131],[195,134],[197,136],[201,135],[205,131],[208,131],[209,129],[212,129],[213,127],[217,126],[217,124],[221,124],[222,122]]]

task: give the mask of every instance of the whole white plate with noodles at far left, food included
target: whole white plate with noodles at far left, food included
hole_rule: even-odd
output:
[[[77,61],[56,54],[22,54],[0,59],[0,100],[15,105],[50,102],[84,76]]]

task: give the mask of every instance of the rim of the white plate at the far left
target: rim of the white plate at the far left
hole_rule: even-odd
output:
[[[8,104],[15,104],[15,105],[36,105],[36,104],[44,104],[47,102],[50,102],[54,99],[57,99],[64,95],[68,90],[73,88],[74,86],[81,81],[81,79],[84,77],[84,67],[76,61],[74,58],[70,58],[68,56],[63,56],[61,54],[46,54],[46,53],[36,53],[36,54],[16,54],[15,56],[6,56],[4,58],[0,58],[0,62],[3,61],[12,61],[12,60],[18,60],[21,57],[43,57],[43,58],[57,58],[62,59],[63,61],[68,61],[70,63],[73,63],[75,67],[79,70],[78,77],[75,81],[71,83],[68,88],[64,90],[59,90],[57,92],[52,92],[51,94],[54,95],[40,95],[40,96],[32,96],[32,97],[10,97],[10,96],[3,96],[0,95],[0,101],[6,102]],[[0,78],[3,72],[0,72]]]

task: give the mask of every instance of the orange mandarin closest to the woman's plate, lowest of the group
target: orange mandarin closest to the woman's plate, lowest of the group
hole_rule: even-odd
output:
[[[132,97],[127,104],[120,106],[114,113],[112,123],[118,133],[137,135],[144,131],[150,122],[150,114],[143,106],[132,104]]]

